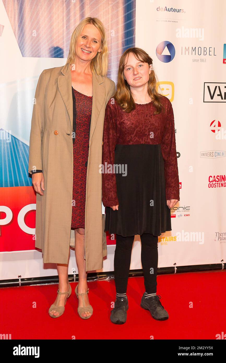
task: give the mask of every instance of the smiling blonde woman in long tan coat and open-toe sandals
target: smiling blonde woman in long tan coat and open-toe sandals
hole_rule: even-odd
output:
[[[42,249],[44,263],[57,264],[59,288],[49,308],[53,318],[63,314],[71,294],[71,229],[82,319],[93,314],[87,271],[101,269],[107,253],[99,173],[104,111],[115,93],[115,83],[106,77],[107,65],[104,26],[87,17],[71,36],[66,64],[45,69],[36,88],[28,171],[37,192],[35,245]]]

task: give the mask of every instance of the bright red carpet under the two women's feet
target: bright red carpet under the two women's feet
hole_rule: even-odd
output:
[[[127,322],[110,321],[115,299],[114,280],[90,282],[90,303],[94,314],[88,320],[78,316],[78,300],[72,293],[65,313],[53,319],[48,310],[57,294],[57,285],[8,287],[1,289],[0,333],[12,339],[216,339],[226,327],[226,273],[181,273],[157,277],[157,294],[169,313],[166,321],[156,321],[140,307],[143,277],[128,281]],[[36,308],[33,304],[36,302]],[[189,305],[193,303],[193,308]]]

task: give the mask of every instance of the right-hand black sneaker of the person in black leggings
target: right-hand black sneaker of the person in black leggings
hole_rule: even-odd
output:
[[[159,298],[161,299],[161,296],[154,295],[145,299],[144,295],[142,296],[140,306],[143,307],[143,309],[149,310],[152,318],[156,320],[167,320],[169,314],[159,300]]]

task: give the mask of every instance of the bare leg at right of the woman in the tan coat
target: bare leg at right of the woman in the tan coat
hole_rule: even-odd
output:
[[[78,293],[83,294],[87,291],[87,272],[86,272],[86,261],[84,259],[84,248],[85,248],[85,229],[75,229],[75,256],[78,266]],[[88,294],[83,295],[85,300],[85,306],[89,305]],[[82,296],[78,297],[78,307],[83,306]],[[91,313],[85,311],[82,313],[83,317],[89,316]]]

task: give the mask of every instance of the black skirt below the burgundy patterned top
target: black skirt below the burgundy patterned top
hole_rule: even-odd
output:
[[[114,163],[125,166],[115,169],[119,209],[106,207],[104,231],[123,237],[172,231],[161,145],[117,144]]]

